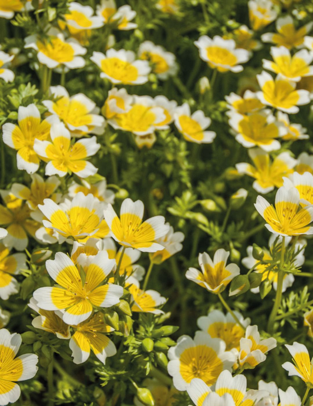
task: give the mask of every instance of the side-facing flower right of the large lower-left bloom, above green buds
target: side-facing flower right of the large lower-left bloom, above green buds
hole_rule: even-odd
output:
[[[166,298],[160,295],[156,290],[142,290],[139,282],[134,276],[129,276],[126,281],[126,287],[132,294],[132,311],[140,313],[162,314],[164,311],[158,309],[159,306],[166,303]]]

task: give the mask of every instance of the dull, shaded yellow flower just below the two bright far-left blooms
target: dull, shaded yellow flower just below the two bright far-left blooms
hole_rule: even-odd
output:
[[[60,193],[54,193],[60,185],[60,180],[56,176],[50,176],[44,180],[38,173],[30,175],[32,183],[28,188],[20,183],[13,183],[11,193],[18,199],[26,200],[31,210],[36,210],[43,200],[50,198],[58,203],[61,199]]]

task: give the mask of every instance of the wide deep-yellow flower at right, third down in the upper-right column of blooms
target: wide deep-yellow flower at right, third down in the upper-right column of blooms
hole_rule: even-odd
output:
[[[235,139],[246,148],[260,147],[274,151],[281,147],[276,138],[287,134],[283,123],[279,123],[270,110],[264,109],[249,115],[229,111],[229,125],[235,132]]]

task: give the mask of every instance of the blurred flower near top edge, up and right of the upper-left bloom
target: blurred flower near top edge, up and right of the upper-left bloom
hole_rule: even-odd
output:
[[[90,6],[83,6],[78,2],[69,3],[69,12],[63,15],[64,20],[58,20],[61,30],[68,28],[69,33],[78,38],[84,34],[88,37],[89,30],[103,26],[103,20],[99,16],[93,15],[93,9]]]

